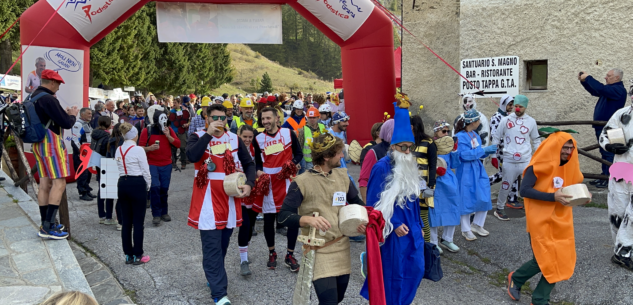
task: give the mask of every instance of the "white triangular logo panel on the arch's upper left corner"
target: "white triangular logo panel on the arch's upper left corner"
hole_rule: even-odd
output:
[[[57,9],[64,0],[47,0]],[[141,0],[66,0],[59,10],[86,41],[91,41],[101,31],[119,19]]]

